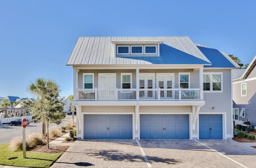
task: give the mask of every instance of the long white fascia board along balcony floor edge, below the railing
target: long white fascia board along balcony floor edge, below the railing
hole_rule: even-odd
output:
[[[177,101],[72,101],[77,106],[203,106],[204,100]]]

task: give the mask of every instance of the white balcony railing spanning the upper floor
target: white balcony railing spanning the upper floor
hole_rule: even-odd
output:
[[[77,89],[76,100],[137,100],[136,89]],[[200,100],[200,89],[139,89],[138,100]]]

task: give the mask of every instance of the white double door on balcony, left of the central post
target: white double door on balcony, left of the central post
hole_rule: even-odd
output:
[[[116,74],[115,73],[99,73],[99,99],[113,100],[116,91]]]

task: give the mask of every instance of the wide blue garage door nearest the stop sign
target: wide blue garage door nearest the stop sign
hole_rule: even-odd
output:
[[[83,116],[84,139],[132,139],[132,115]]]

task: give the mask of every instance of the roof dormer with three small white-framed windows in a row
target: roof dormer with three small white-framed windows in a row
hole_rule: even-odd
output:
[[[111,41],[115,57],[159,57],[162,40],[116,40]]]

